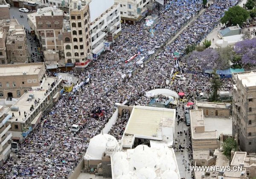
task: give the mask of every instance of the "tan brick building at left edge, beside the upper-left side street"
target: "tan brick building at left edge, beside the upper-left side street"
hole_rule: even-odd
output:
[[[28,50],[24,26],[19,25],[16,19],[10,19],[1,20],[0,28],[3,28],[6,31],[7,36],[7,40],[5,40],[7,54],[7,60],[5,60],[5,64],[25,63],[28,60]],[[3,64],[2,60],[1,63]]]

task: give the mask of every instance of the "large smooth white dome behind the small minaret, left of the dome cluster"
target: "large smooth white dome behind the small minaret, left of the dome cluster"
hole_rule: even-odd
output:
[[[113,142],[116,145],[118,144],[115,137],[109,134],[99,134],[91,138],[84,159],[101,159],[102,153],[106,151],[106,143],[109,139],[113,139]]]

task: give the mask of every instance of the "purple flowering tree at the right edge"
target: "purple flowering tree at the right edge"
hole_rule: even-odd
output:
[[[242,57],[242,63],[256,65],[256,38],[236,43],[234,51]]]

